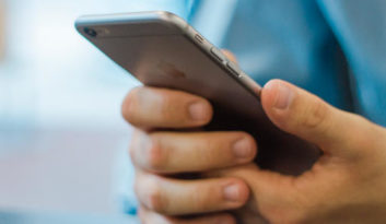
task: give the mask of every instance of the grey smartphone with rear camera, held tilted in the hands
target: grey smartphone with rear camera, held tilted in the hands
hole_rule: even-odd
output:
[[[144,85],[209,99],[214,116],[206,129],[252,133],[259,145],[260,167],[300,175],[320,156],[315,145],[279,130],[261,107],[260,85],[177,15],[164,11],[86,15],[77,20],[75,27]]]

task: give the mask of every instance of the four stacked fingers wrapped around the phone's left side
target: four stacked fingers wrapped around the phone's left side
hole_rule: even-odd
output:
[[[253,164],[257,154],[253,137],[239,131],[198,131],[212,119],[212,107],[207,99],[179,91],[137,87],[125,99],[122,114],[136,127],[130,155],[143,223],[235,223],[222,211],[247,202],[249,188],[242,179],[192,180],[175,175]],[[187,192],[195,193],[179,197]],[[202,215],[172,217],[189,214]]]

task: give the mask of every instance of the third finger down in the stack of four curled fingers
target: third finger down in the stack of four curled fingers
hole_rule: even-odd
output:
[[[138,172],[136,193],[147,209],[167,215],[187,215],[243,207],[249,189],[237,178],[179,180]]]

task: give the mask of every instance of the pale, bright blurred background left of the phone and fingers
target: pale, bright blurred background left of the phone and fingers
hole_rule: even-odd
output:
[[[0,0],[0,209],[115,213],[120,116],[138,85],[77,34],[81,14],[125,0]]]

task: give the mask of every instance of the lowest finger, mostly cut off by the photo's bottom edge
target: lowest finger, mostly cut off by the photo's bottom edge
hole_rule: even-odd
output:
[[[236,224],[235,219],[227,213],[183,219],[165,216],[143,207],[139,210],[139,217],[142,224]]]

